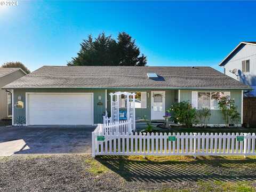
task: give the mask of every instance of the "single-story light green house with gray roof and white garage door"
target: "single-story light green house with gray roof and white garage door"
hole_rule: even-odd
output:
[[[211,67],[44,66],[3,87],[13,92],[13,125],[93,125],[110,115],[111,92],[135,92],[135,115],[163,119],[174,102],[209,107],[209,124],[224,124],[218,97],[230,95],[243,113],[251,87]],[[119,106],[126,109],[125,98]],[[120,109],[120,110],[121,110]],[[242,120],[241,120],[242,123]]]

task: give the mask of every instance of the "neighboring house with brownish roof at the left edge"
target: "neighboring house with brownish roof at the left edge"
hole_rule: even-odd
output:
[[[21,68],[0,67],[0,88],[27,75]],[[0,90],[0,120],[12,117],[11,92]]]

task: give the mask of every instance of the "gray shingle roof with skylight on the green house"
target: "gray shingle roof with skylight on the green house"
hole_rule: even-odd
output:
[[[156,73],[158,79],[149,79]],[[211,67],[44,66],[4,89],[15,88],[250,89]]]

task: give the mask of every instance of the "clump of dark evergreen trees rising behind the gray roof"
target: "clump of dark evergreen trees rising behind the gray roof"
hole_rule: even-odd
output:
[[[117,42],[105,33],[94,39],[89,35],[83,40],[77,57],[68,66],[145,66],[147,59],[140,55],[135,40],[129,34],[119,33]]]

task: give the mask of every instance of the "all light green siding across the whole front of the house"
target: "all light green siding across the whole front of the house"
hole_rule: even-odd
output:
[[[127,91],[127,92],[147,92],[147,108],[145,109],[135,109],[136,117],[142,117],[146,115],[148,119],[151,119],[151,91],[154,90],[141,90],[141,89],[115,89],[107,90],[107,109],[110,115],[110,92],[116,91]],[[155,91],[165,91],[165,110],[169,109],[175,99],[178,99],[178,90],[155,90]],[[191,92],[192,91],[202,91],[202,90],[180,90],[180,101],[189,101],[191,103]],[[204,90],[204,91],[217,91],[217,90]],[[218,90],[224,91],[224,90]],[[241,114],[241,102],[242,95],[241,90],[225,90],[230,91],[231,99],[235,99],[235,104],[238,107],[238,112]],[[105,99],[105,89],[15,89],[14,90],[14,103],[17,102],[18,96],[21,96],[21,100],[24,102],[24,108],[18,109],[14,106],[14,124],[17,117],[26,117],[26,92],[36,92],[36,93],[93,93],[93,117],[94,124],[102,123],[102,113],[105,111],[106,99]],[[99,100],[101,96],[101,100]],[[99,102],[102,102],[103,105],[98,105]],[[209,124],[224,124],[223,117],[220,110],[211,110],[211,118]]]

